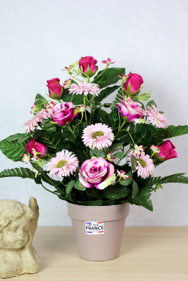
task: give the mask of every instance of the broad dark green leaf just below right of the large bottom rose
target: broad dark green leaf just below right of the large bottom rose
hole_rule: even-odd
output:
[[[108,199],[120,199],[127,196],[131,191],[123,185],[110,185],[105,188],[103,196]]]

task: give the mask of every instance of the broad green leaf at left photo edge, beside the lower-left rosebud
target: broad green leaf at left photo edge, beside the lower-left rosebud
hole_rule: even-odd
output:
[[[6,155],[7,158],[12,159],[13,161],[21,161],[23,154],[26,152],[25,146],[28,141],[23,141],[18,143],[18,139],[10,141],[9,138],[13,136],[8,136],[3,141],[0,141],[0,150]]]

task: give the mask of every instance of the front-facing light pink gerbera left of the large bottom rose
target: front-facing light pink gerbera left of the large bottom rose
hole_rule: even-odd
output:
[[[46,171],[50,171],[49,174],[57,176],[57,178],[73,175],[73,172],[79,166],[79,162],[75,154],[71,154],[72,152],[68,152],[68,150],[57,152],[56,157],[51,158],[46,165]]]

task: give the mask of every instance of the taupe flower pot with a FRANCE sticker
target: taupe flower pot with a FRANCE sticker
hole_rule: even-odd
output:
[[[108,261],[118,258],[130,204],[113,206],[81,206],[68,202],[68,216],[80,258]]]

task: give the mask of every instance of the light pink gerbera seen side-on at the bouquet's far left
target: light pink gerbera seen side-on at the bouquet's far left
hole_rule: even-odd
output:
[[[41,110],[40,112],[35,115],[35,117],[32,117],[32,119],[26,121],[23,126],[27,126],[25,128],[26,133],[30,133],[31,131],[35,131],[38,126],[38,122],[42,122],[43,124],[45,123],[44,119],[47,119],[48,115],[46,110]]]

